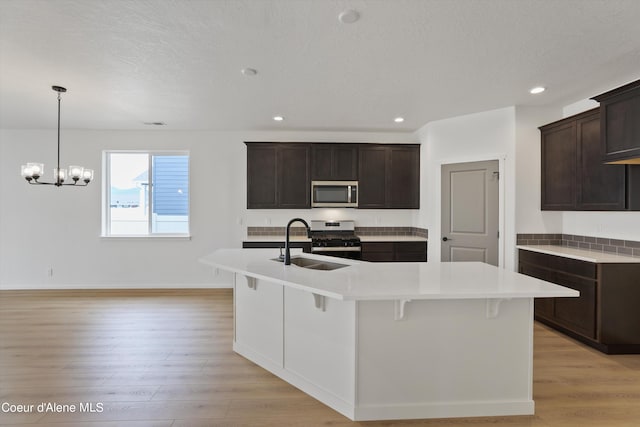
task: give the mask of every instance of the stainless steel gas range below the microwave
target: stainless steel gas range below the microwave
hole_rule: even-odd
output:
[[[311,221],[311,252],[341,258],[360,259],[360,238],[355,222]]]

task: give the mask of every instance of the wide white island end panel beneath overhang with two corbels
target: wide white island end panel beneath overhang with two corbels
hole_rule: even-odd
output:
[[[533,299],[358,303],[356,420],[533,414]]]

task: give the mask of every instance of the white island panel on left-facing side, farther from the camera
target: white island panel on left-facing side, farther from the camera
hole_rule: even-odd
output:
[[[233,349],[273,371],[283,366],[284,286],[235,275]]]

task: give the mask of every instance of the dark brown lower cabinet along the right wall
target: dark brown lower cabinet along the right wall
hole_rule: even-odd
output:
[[[592,263],[520,250],[518,271],[580,292],[537,298],[535,318],[604,353],[640,353],[640,263]]]

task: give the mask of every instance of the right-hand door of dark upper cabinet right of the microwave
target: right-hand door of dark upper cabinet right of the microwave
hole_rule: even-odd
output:
[[[420,208],[420,146],[389,147],[387,207]]]

